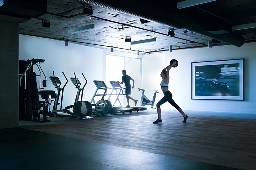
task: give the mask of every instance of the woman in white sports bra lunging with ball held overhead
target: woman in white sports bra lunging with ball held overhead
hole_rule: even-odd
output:
[[[161,89],[163,91],[163,95],[164,97],[161,98],[161,100],[159,100],[159,102],[157,103],[157,115],[158,115],[158,119],[156,121],[154,121],[153,123],[161,123],[162,119],[161,119],[161,109],[160,106],[165,103],[165,102],[169,102],[173,107],[175,107],[179,113],[184,117],[184,120],[182,122],[186,122],[188,119],[188,116],[181,110],[181,108],[174,102],[174,100],[172,99],[172,94],[171,92],[168,90],[168,84],[169,84],[169,71],[170,69],[176,65],[178,63],[178,61],[174,61],[171,65],[165,67],[160,76],[162,78],[162,81],[160,83],[161,85]]]

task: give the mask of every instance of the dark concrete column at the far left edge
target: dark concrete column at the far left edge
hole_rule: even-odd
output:
[[[19,127],[19,23],[0,20],[0,128]]]

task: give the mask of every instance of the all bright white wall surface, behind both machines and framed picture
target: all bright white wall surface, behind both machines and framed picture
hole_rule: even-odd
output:
[[[45,59],[41,66],[47,76],[46,90],[56,90],[48,80],[52,71],[64,83],[62,72],[68,79],[74,77],[74,72],[82,82],[82,73],[88,80],[84,91],[83,100],[91,101],[96,87],[93,80],[105,81],[105,55],[107,50],[91,48],[83,45],[69,43],[64,47],[63,41],[51,40],[20,35],[19,59],[28,60],[32,58]],[[160,89],[160,72],[173,58],[179,61],[179,66],[170,71],[169,90],[173,94],[174,101],[183,110],[198,111],[220,111],[256,113],[256,43],[246,43],[242,47],[232,45],[209,48],[198,48],[189,50],[173,50],[173,52],[153,53],[144,55],[142,59],[143,82],[145,94],[152,99],[153,90]],[[118,53],[118,54],[117,54]],[[115,52],[121,56],[134,56],[136,54]],[[212,61],[244,58],[244,101],[234,100],[191,100],[191,62]],[[36,70],[36,69],[35,69]],[[75,86],[69,81],[64,90],[64,106],[74,103],[76,95]],[[162,92],[157,94],[155,104],[163,96]],[[169,104],[162,105],[164,109],[174,109]]]

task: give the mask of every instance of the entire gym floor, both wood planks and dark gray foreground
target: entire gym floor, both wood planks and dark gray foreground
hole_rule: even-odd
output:
[[[254,169],[256,114],[175,110],[0,129],[0,169]]]

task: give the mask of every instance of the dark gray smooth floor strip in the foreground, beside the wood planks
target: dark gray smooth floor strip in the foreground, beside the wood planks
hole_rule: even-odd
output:
[[[232,170],[24,128],[0,129],[1,170]],[[184,148],[185,149],[185,148]]]

